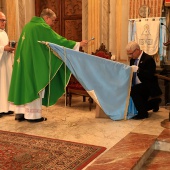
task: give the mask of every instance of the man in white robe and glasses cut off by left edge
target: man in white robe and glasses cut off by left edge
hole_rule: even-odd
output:
[[[0,117],[13,112],[9,110],[8,92],[11,81],[13,51],[9,46],[8,35],[5,32],[5,14],[0,12]]]

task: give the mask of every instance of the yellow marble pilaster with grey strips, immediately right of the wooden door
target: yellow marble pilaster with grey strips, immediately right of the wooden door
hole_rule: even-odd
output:
[[[95,52],[104,43],[109,48],[109,0],[83,0],[83,39],[94,41],[89,42],[86,52]]]

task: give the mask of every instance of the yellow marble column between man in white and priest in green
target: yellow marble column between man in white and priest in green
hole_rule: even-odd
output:
[[[2,0],[10,40],[18,41],[25,24],[35,15],[35,0]]]

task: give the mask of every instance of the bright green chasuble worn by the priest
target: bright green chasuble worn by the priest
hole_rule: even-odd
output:
[[[45,88],[43,105],[50,106],[64,94],[70,71],[62,60],[38,41],[47,41],[73,48],[75,41],[58,35],[43,18],[33,17],[21,33],[13,66],[8,100],[15,105],[39,98]]]

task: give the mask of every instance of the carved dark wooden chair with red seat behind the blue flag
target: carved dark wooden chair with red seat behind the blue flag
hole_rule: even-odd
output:
[[[107,51],[107,49],[103,43],[100,45],[99,49],[97,49],[95,52],[92,52],[92,55],[106,58],[106,59],[111,59],[111,56],[112,56],[111,52]],[[78,80],[73,75],[71,76],[70,82],[67,85],[66,92],[67,92],[67,98],[68,98],[67,103],[69,104],[69,106],[71,106],[73,94],[80,95],[80,96],[83,96],[83,102],[85,102],[86,97],[88,97],[89,110],[91,111],[93,99],[91,98],[91,96],[87,93],[87,91],[84,89],[84,87],[78,82]]]

